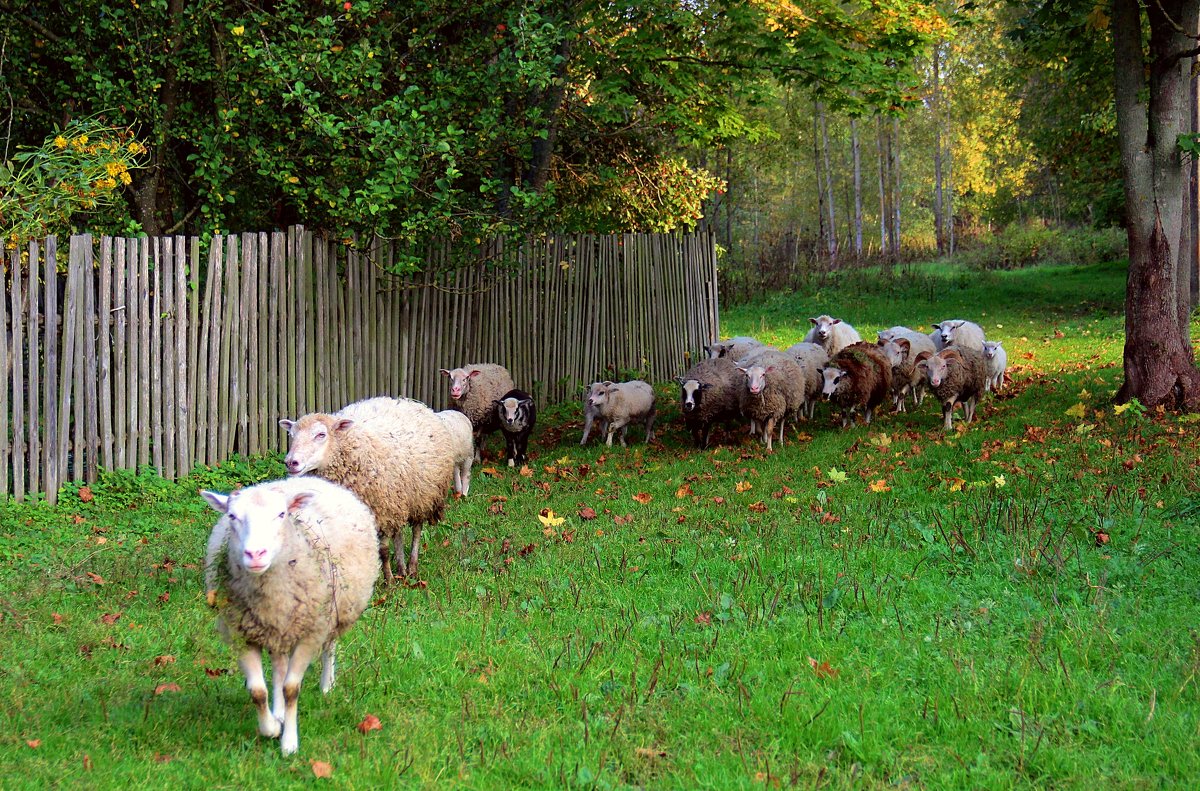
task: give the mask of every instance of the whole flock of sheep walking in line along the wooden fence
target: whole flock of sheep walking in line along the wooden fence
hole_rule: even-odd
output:
[[[708,347],[709,359],[678,378],[684,423],[697,447],[713,425],[749,420],[767,449],[786,424],[812,418],[824,397],[871,421],[889,397],[904,411],[925,391],[952,427],[956,402],[965,419],[979,396],[1003,384],[1006,355],[971,322],[954,319],[924,335],[902,326],[864,343],[847,323],[821,316],[786,350],[748,337]],[[335,646],[371,601],[380,569],[392,558],[415,577],[421,529],[442,519],[448,492],[466,496],[484,438],[499,430],[510,466],[523,465],[536,409],[509,372],[491,364],[443,370],[452,409],[433,412],[409,399],[376,397],[334,414],[281,420],[289,435],[289,478],[230,495],[203,492],[218,514],[209,537],[205,585],[220,607],[217,628],[240,651],[239,666],[258,712],[258,732],[278,737],[284,755],[299,748],[296,701],[308,665],[322,657],[320,689],[335,678]],[[595,382],[584,395],[584,444],[599,421],[606,443],[625,444],[631,424],[654,436],[653,388],[641,380]],[[268,695],[263,651],[271,661]],[[270,706],[268,699],[270,697]]]

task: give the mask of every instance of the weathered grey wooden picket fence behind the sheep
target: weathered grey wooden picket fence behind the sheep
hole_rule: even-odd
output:
[[[559,401],[605,371],[676,376],[718,336],[707,233],[497,242],[457,268],[442,248],[403,276],[386,242],[302,228],[214,236],[203,266],[182,236],[25,252],[0,300],[0,499],[280,451],[280,418],[372,395],[442,408],[442,367],[499,362]]]

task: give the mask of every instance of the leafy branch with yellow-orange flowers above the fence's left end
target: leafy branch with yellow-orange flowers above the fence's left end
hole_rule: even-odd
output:
[[[132,172],[145,166],[145,152],[131,130],[83,119],[0,162],[0,238],[6,247],[66,234],[78,215],[114,205]]]

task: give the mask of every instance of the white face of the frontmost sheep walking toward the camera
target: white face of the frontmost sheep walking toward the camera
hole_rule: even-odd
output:
[[[289,516],[313,497],[312,492],[299,492],[289,498],[272,489],[254,489],[245,495],[200,493],[215,511],[228,517],[238,562],[254,575],[271,568],[283,547]]]

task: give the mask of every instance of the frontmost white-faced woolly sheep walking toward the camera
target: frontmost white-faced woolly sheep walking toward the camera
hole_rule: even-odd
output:
[[[278,737],[292,755],[305,671],[319,653],[320,691],[332,689],[337,639],[371,604],[379,577],[374,515],[349,490],[312,477],[202,495],[221,514],[205,558],[210,601],[217,587],[222,593],[217,630],[241,652],[258,732]],[[270,708],[263,651],[271,659]]]

